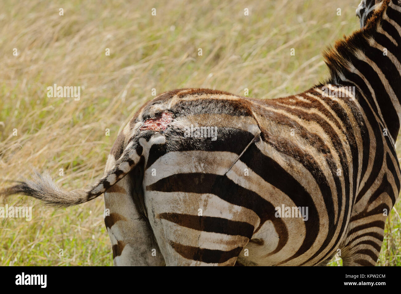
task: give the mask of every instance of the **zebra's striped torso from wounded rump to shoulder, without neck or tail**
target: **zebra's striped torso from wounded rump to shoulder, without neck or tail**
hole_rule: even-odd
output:
[[[179,89],[139,110],[111,154],[143,171],[137,203],[167,265],[315,265],[372,236],[377,251],[395,152],[359,92],[325,87],[272,100]]]

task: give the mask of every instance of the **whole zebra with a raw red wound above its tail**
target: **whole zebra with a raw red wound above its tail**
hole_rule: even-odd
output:
[[[401,6],[357,13],[361,29],[323,53],[325,82],[265,100],[162,93],[93,185],[65,191],[45,173],[1,194],[69,207],[104,193],[116,266],[374,266],[400,191]]]

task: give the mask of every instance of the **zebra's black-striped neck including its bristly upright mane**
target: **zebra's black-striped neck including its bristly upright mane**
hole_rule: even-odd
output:
[[[401,123],[401,7],[384,0],[362,29],[324,53],[328,83],[354,85],[364,111],[372,112],[396,140]]]

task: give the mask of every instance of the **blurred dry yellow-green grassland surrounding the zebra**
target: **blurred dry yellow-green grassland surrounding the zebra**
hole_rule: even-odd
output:
[[[328,75],[321,51],[358,29],[358,2],[1,1],[0,188],[32,167],[66,189],[91,184],[152,88],[248,88],[263,99],[308,89]],[[81,99],[47,97],[54,83],[81,86]],[[33,219],[0,219],[0,265],[112,265],[103,197],[59,210],[20,195],[5,203],[32,206]],[[379,265],[401,264],[400,239],[393,210]]]

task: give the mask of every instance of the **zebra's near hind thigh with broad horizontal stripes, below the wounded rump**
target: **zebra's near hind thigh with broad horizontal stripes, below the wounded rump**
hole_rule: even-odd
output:
[[[234,265],[259,223],[238,184],[243,174],[232,172],[253,135],[221,128],[216,140],[174,131],[165,137],[164,144],[146,142],[143,189],[166,265]]]

